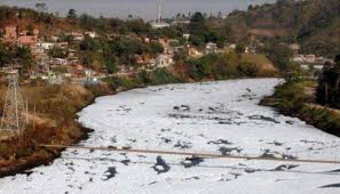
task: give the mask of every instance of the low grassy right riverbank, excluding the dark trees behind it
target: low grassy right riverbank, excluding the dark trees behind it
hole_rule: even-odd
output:
[[[272,96],[261,100],[261,105],[272,106],[280,113],[297,117],[322,131],[340,136],[340,110],[315,103],[316,82],[303,80],[275,87]]]

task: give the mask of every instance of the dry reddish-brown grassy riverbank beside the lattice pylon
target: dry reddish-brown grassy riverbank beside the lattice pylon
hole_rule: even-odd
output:
[[[0,90],[2,92],[5,88]],[[68,84],[22,86],[21,92],[24,98],[30,99],[29,124],[21,138],[10,138],[0,142],[0,178],[49,164],[63,151],[40,148],[36,146],[38,144],[67,146],[85,140],[91,130],[77,122],[76,113],[92,104],[98,96],[114,94],[114,90],[107,84],[90,88]],[[0,101],[3,104],[3,99]],[[35,116],[33,116],[34,104]]]

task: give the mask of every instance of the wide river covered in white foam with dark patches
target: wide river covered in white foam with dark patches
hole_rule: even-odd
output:
[[[79,112],[79,146],[340,160],[340,138],[258,105],[281,79],[170,84],[103,96]],[[339,194],[340,165],[66,149],[0,179],[0,194]]]

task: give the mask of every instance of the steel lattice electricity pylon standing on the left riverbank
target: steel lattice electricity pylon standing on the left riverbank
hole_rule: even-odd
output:
[[[20,135],[27,123],[27,106],[23,103],[17,72],[8,73],[8,88],[1,118],[0,130],[11,135]],[[26,118],[25,118],[26,111]]]

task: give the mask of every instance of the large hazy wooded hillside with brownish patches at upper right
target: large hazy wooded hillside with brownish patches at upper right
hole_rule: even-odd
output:
[[[250,6],[225,19],[229,40],[277,37],[299,43],[302,53],[334,58],[340,52],[339,0],[278,0],[275,4]]]

